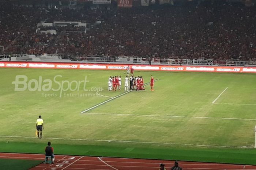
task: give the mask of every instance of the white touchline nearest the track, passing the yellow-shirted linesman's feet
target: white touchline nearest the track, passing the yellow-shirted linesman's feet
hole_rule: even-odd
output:
[[[31,137],[31,136],[0,136],[0,137],[35,139],[35,137]],[[219,147],[219,148],[241,148],[241,146],[219,146],[219,145],[204,145],[204,144],[165,143],[165,142],[148,142],[148,141],[129,141],[129,140],[72,139],[72,138],[56,138],[56,137],[44,137],[44,139],[76,140],[76,141],[99,141],[99,142],[117,142],[117,143],[163,144],[163,145]]]

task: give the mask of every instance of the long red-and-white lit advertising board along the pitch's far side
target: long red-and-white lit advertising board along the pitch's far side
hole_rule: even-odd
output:
[[[188,71],[188,72],[230,72],[256,73],[256,67],[214,67],[214,66],[169,66],[169,65],[132,65],[132,64],[83,64],[83,63],[37,63],[37,62],[0,62],[0,68],[54,68],[54,69],[106,69],[126,70],[130,66],[145,71]]]

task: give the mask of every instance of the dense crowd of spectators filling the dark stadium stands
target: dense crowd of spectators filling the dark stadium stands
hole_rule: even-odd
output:
[[[95,24],[97,20],[104,22]],[[61,27],[56,35],[36,33],[41,21],[80,21],[92,28],[86,33],[82,27]],[[2,2],[0,46],[4,53],[256,61],[256,6],[207,1],[182,6],[50,10]]]

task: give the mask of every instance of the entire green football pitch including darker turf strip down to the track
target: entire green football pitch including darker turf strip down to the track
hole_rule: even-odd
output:
[[[61,75],[58,82],[87,76],[88,91],[80,87],[61,97],[60,91],[15,91],[16,75],[28,80]],[[121,91],[108,91],[110,75],[123,76]],[[123,93],[124,71],[0,69],[0,136],[16,136],[0,137],[0,151],[27,152],[22,148],[30,147],[31,152],[42,153],[38,146],[50,140],[56,154],[255,164],[256,151],[241,147],[255,142],[256,75],[138,71],[137,75],[144,82],[150,75],[159,79],[155,91],[146,86],[145,91],[129,92],[80,114],[109,99],[96,95],[97,88],[108,97]],[[35,138],[38,115],[45,121],[43,139]]]

